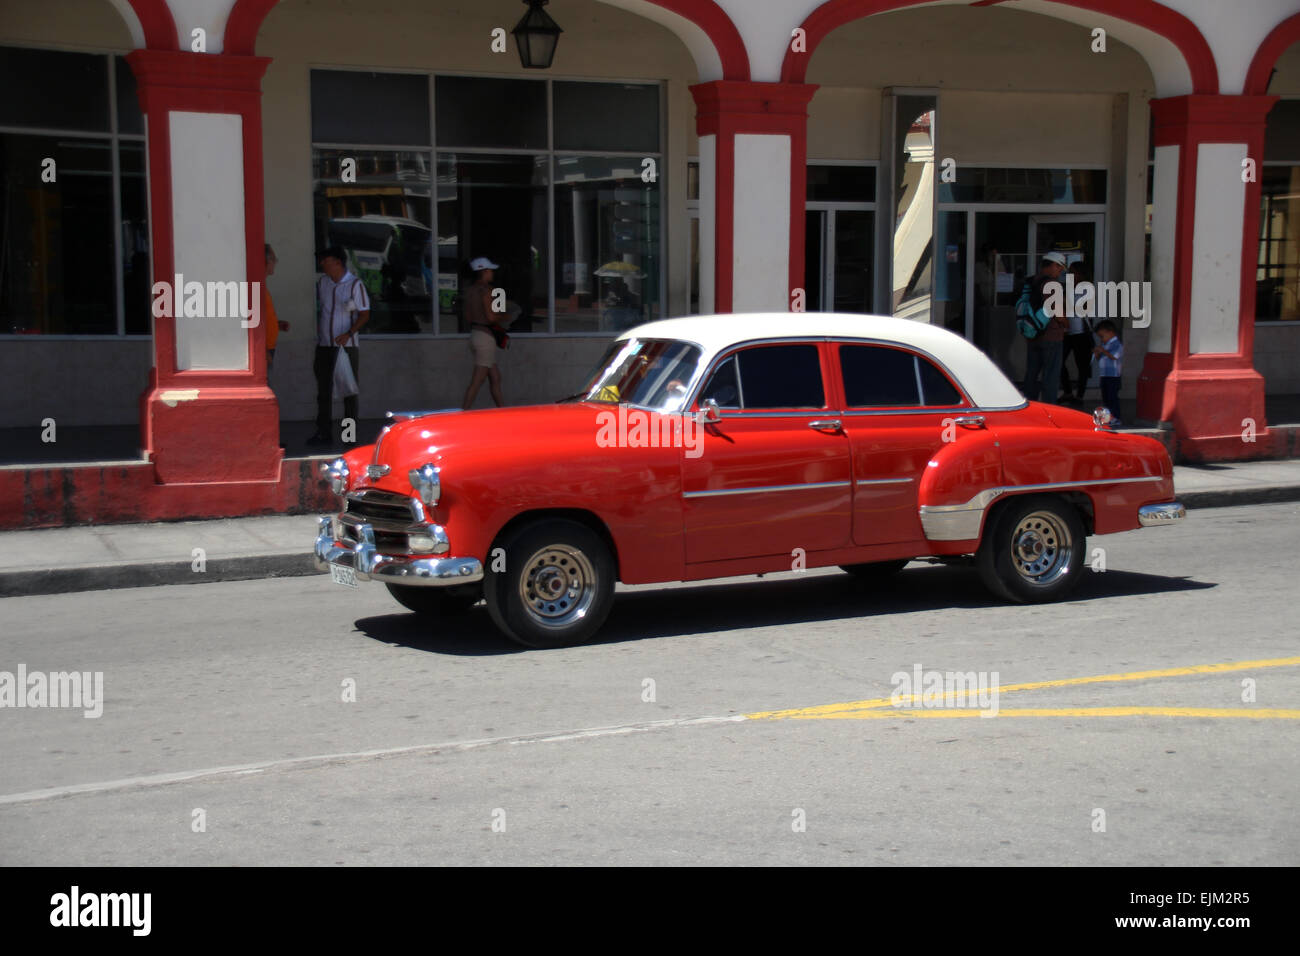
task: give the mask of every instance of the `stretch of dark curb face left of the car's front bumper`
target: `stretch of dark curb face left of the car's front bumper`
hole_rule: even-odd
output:
[[[35,571],[0,572],[0,597],[68,594],[77,591],[152,588],[161,584],[209,584],[250,581],[265,578],[299,578],[322,574],[311,551],[250,554],[239,558],[208,558],[204,571],[188,561],[152,561],[122,564],[83,564]]]

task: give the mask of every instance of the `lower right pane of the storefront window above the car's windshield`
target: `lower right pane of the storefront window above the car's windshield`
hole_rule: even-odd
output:
[[[555,330],[620,332],[659,315],[659,183],[636,159],[555,159]]]

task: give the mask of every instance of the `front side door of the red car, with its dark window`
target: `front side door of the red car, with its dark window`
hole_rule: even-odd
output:
[[[682,455],[690,564],[848,546],[849,442],[827,407],[820,342],[750,345],[720,356],[696,407],[718,402],[698,453]]]

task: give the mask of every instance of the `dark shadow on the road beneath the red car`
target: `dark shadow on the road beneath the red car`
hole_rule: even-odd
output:
[[[1218,585],[1210,581],[1135,571],[1084,571],[1070,602],[1214,587]],[[984,589],[970,567],[915,563],[883,584],[863,584],[846,574],[810,574],[802,579],[781,575],[620,592],[608,620],[592,643],[879,618],[927,609],[996,606],[1005,605]],[[486,657],[526,650],[497,631],[482,604],[441,622],[398,609],[393,614],[361,618],[356,628],[385,644],[438,654]]]

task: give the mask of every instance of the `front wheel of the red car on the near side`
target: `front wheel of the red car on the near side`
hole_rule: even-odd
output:
[[[493,548],[504,549],[506,570],[489,571],[484,598],[507,637],[525,648],[564,648],[601,630],[614,606],[616,572],[599,535],[546,518],[512,529]]]

